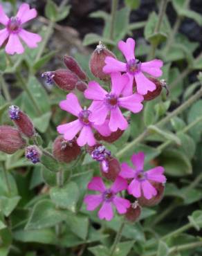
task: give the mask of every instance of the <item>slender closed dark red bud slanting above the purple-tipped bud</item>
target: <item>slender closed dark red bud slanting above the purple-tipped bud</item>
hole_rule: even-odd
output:
[[[80,77],[81,80],[86,80],[86,78],[87,78],[86,73],[84,73],[84,71],[82,71],[82,68],[80,67],[80,65],[76,62],[76,60],[73,57],[65,55],[64,56],[64,64],[70,71],[72,71],[78,77]]]

